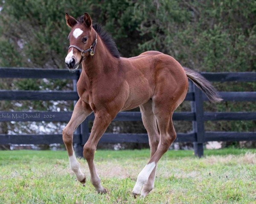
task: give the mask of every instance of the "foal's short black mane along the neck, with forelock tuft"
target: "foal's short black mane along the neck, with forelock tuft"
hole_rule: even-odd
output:
[[[77,20],[79,23],[84,23],[84,16],[81,16]],[[105,46],[108,48],[108,51],[113,57],[120,57],[119,51],[116,48],[116,43],[112,39],[111,35],[108,34],[100,24],[93,23],[93,29],[100,36],[101,40],[104,42]]]

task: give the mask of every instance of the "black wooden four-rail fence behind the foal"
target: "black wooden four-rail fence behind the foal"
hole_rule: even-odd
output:
[[[255,82],[255,72],[202,72],[209,81],[215,82]],[[68,70],[57,69],[30,69],[30,68],[0,68],[0,78],[49,78],[49,79],[72,79],[73,91],[8,91],[0,90],[0,100],[72,100],[74,103],[79,99],[76,92],[76,82],[80,71],[71,74]],[[224,101],[256,101],[256,92],[220,92]],[[190,133],[177,133],[175,142],[193,142],[195,155],[203,155],[203,144],[208,141],[249,141],[256,140],[256,132],[207,132],[204,130],[204,121],[216,120],[255,120],[255,112],[204,112],[203,102],[207,97],[192,83],[190,91],[186,95],[187,101],[191,101],[191,112],[174,113],[174,120],[192,121],[193,130]],[[19,117],[27,114],[26,118]],[[68,122],[72,112],[20,112],[0,111],[0,122],[11,121],[47,121]],[[54,117],[51,117],[53,116]],[[34,116],[34,117],[29,117]],[[38,117],[36,117],[38,116]],[[74,143],[76,154],[82,155],[83,144],[87,141],[90,133],[88,122],[93,120],[91,114],[76,129]],[[141,121],[140,112],[121,112],[114,121]],[[105,133],[99,142],[122,143],[135,142],[147,143],[147,134],[133,133]],[[0,134],[0,144],[53,144],[62,143],[61,134]]]

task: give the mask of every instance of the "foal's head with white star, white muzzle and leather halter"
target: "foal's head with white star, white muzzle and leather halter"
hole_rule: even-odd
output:
[[[79,21],[67,13],[65,17],[67,25],[71,28],[70,34],[68,35],[70,47],[65,58],[65,65],[70,70],[73,70],[78,68],[79,63],[84,57],[94,54],[93,49],[95,47],[92,45],[96,44],[96,31],[92,28],[92,20],[87,13],[84,13],[84,17],[80,17]]]

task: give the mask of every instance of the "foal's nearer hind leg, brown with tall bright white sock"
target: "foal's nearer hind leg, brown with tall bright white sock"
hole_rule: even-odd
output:
[[[169,149],[172,142],[176,139],[176,132],[172,124],[172,108],[168,106],[168,102],[162,101],[159,104],[153,105],[154,115],[157,118],[157,125],[160,130],[160,141],[157,151],[148,161],[148,164],[139,173],[136,184],[132,193],[136,196],[140,194],[143,184],[148,181],[148,177],[157,165],[157,162]]]

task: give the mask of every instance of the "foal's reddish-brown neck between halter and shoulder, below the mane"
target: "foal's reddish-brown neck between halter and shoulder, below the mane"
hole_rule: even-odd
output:
[[[82,62],[82,71],[85,72],[89,79],[98,77],[99,75],[116,72],[118,69],[118,59],[113,57],[105,47],[101,39],[98,39],[95,54],[88,56]]]

